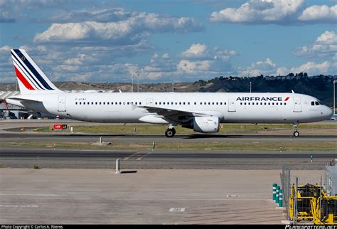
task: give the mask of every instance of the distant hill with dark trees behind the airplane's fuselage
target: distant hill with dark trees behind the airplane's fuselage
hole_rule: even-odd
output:
[[[291,92],[312,95],[324,104],[333,106],[333,80],[337,75],[307,76],[289,74],[287,76],[263,76],[251,78],[223,77],[212,80],[198,80],[196,82],[176,82],[174,92]],[[124,82],[54,82],[61,90],[105,90],[131,92],[132,83]],[[337,85],[336,85],[337,86]],[[16,90],[16,83],[0,83],[0,91]],[[139,84],[139,92],[172,92],[172,83],[144,83]],[[134,84],[137,92],[137,84]],[[336,92],[337,94],[337,92]],[[337,97],[336,97],[337,101]]]

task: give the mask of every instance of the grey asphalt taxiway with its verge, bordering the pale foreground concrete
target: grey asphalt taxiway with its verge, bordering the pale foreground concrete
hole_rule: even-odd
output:
[[[312,156],[312,162],[311,162]],[[112,151],[0,147],[0,167],[127,169],[324,169],[336,151]]]

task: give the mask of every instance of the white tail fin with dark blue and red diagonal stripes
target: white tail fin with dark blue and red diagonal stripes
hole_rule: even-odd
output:
[[[21,95],[61,92],[23,49],[11,49]]]

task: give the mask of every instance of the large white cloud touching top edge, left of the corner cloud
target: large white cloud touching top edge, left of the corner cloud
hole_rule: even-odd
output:
[[[210,15],[211,22],[284,23],[301,9],[304,0],[251,0],[239,8],[227,8]]]

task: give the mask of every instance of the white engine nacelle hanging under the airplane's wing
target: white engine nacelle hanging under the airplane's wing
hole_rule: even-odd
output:
[[[191,122],[182,125],[200,133],[217,133],[219,131],[219,117],[194,117]]]

